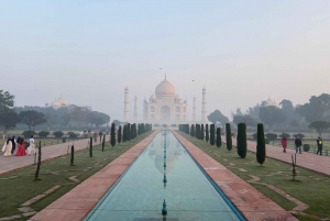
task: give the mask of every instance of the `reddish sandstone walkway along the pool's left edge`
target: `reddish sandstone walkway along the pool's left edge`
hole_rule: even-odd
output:
[[[98,173],[36,213],[29,221],[82,220],[157,133],[156,131],[135,144]]]

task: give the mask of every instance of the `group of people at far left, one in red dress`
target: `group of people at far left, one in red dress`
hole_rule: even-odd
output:
[[[30,156],[31,153],[35,154],[35,146],[34,146],[34,139],[31,136],[29,140],[29,146],[25,148],[25,142],[24,139],[18,137],[15,140],[15,136],[9,137],[7,142],[4,142],[2,152],[3,156],[25,156],[28,151],[28,155]]]

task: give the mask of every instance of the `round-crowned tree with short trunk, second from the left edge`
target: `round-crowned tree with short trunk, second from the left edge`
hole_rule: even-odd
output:
[[[19,117],[20,117],[20,122],[26,124],[30,131],[31,129],[33,129],[34,131],[34,126],[47,122],[43,113],[34,110],[21,111]]]

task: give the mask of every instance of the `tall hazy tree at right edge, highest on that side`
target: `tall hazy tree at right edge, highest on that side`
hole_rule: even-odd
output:
[[[296,112],[305,117],[306,121],[326,121],[330,118],[330,95],[312,96],[308,103],[296,108]]]

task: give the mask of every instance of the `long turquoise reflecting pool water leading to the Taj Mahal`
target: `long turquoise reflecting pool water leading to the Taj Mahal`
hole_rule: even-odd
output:
[[[178,140],[161,131],[85,220],[243,220],[218,191]]]

